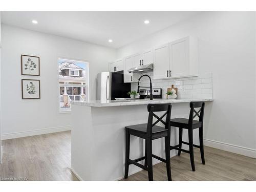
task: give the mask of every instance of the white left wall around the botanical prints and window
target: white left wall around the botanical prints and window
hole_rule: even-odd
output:
[[[21,75],[21,54],[40,57],[39,77]],[[116,50],[2,25],[2,138],[70,129],[71,114],[57,113],[58,57],[89,60],[90,98],[95,99],[96,74],[108,70]],[[41,99],[22,99],[22,78],[40,79]]]

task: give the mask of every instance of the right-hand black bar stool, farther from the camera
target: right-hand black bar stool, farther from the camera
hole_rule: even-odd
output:
[[[194,162],[194,150],[193,147],[200,148],[202,163],[205,164],[204,160],[204,144],[203,144],[203,119],[204,119],[204,102],[190,102],[190,113],[189,119],[185,118],[176,118],[170,120],[170,126],[179,127],[179,144],[175,146],[170,146],[170,150],[178,150],[178,155],[181,152],[189,153],[190,162],[193,172],[195,172],[195,162]],[[195,108],[200,108],[198,111]],[[195,115],[194,115],[195,113]],[[199,117],[199,120],[194,120],[195,117]],[[199,145],[193,144],[193,130],[199,128]],[[183,129],[188,130],[188,143],[182,141],[182,132]],[[183,150],[183,144],[189,145],[189,151]]]

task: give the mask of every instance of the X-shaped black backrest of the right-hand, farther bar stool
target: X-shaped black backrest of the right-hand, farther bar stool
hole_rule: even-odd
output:
[[[203,122],[204,119],[204,102],[190,102],[190,113],[189,113],[189,120],[188,124],[193,124],[193,119],[195,117],[199,118],[200,122]],[[198,111],[195,108],[200,108]],[[194,115],[195,113],[195,115]]]

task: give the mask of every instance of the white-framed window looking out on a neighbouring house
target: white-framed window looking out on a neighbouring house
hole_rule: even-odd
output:
[[[71,110],[71,101],[86,101],[88,96],[88,65],[86,61],[58,59],[59,111]]]

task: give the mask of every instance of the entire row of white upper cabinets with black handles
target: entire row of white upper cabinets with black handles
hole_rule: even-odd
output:
[[[193,77],[198,75],[197,38],[188,36],[109,63],[111,72],[123,70],[124,82],[138,82],[141,74],[127,70],[154,64],[154,79]]]

